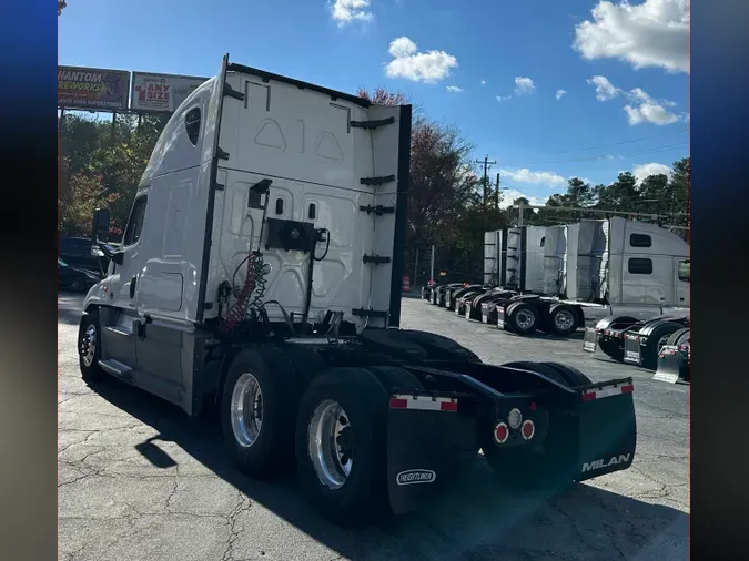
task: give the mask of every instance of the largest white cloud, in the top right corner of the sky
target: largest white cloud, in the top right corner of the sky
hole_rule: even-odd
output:
[[[634,68],[689,72],[689,0],[601,0],[593,21],[575,28],[573,48],[588,60],[615,58]]]

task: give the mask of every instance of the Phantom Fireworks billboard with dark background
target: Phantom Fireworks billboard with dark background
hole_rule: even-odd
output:
[[[130,72],[58,67],[58,106],[99,111],[128,109]]]

